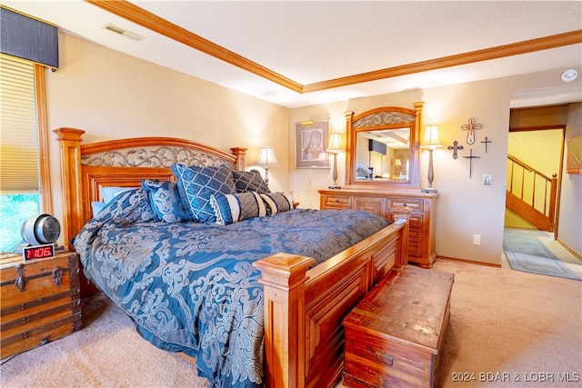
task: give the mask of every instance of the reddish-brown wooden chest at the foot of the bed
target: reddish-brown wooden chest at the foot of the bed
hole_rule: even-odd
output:
[[[408,266],[376,284],[344,320],[344,384],[435,386],[454,277]]]

